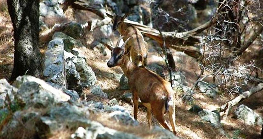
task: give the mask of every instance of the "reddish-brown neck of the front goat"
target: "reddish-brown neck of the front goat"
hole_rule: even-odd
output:
[[[130,74],[135,70],[136,66],[130,61],[128,56],[125,56],[122,63],[123,64],[120,65],[120,68],[124,72],[125,76],[129,78]]]

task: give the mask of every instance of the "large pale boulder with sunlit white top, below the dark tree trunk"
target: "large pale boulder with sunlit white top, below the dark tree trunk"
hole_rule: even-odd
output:
[[[24,85],[25,83],[29,86]],[[22,86],[23,88],[21,88]],[[32,88],[30,88],[30,86],[32,86]],[[18,76],[16,81],[14,81],[13,83],[13,87],[14,87],[13,91],[17,92],[15,93],[16,95],[15,97],[24,100],[22,102],[31,103],[31,101],[33,100],[30,99],[34,98],[36,99],[35,100],[36,102],[32,102],[32,103],[37,103],[37,101],[44,101],[43,104],[50,105],[46,101],[54,101],[57,103],[57,102],[68,101],[70,99],[70,96],[50,86],[44,80],[29,75]],[[36,92],[32,91],[32,89],[34,89],[34,91]],[[24,93],[23,91],[25,91],[26,93]],[[48,98],[51,97],[51,100],[46,100],[47,98],[41,96],[43,94]],[[37,100],[39,98],[43,98],[43,100]]]

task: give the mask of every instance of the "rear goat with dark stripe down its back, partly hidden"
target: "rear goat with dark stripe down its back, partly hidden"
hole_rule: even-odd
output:
[[[128,16],[128,14],[125,14],[123,17],[119,15],[112,16],[108,13],[106,14],[108,17],[112,18],[113,30],[117,29],[119,33],[124,36],[124,41],[131,37],[131,40],[129,40],[125,46],[125,50],[127,51],[130,49],[129,56],[131,55],[132,62],[138,66],[141,61],[142,65],[146,66],[148,44],[144,41],[143,35],[139,29],[135,28],[133,25],[124,23],[124,19]]]

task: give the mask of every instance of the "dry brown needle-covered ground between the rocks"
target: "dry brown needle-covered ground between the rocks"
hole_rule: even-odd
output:
[[[78,22],[84,22],[92,20],[96,18],[96,16],[92,13],[81,11],[77,15],[73,14],[72,9],[68,9],[66,11],[67,18],[63,20],[55,20],[55,21],[67,21],[67,20],[76,20]],[[90,16],[89,16],[90,15]],[[48,23],[48,25],[53,25],[52,21]],[[114,44],[116,44],[117,33],[113,33],[109,38],[112,39]],[[13,64],[13,31],[12,24],[10,21],[10,17],[7,12],[6,1],[0,0],[0,79],[6,78],[8,79],[12,72],[12,64]],[[119,80],[116,78],[116,75],[121,75],[123,72],[120,68],[108,68],[106,65],[107,60],[110,58],[109,50],[106,50],[107,56],[103,56],[97,50],[91,50],[88,48],[94,40],[104,37],[102,33],[98,29],[94,30],[93,33],[87,33],[85,37],[80,39],[83,44],[87,46],[87,49],[83,49],[83,53],[86,56],[87,64],[93,69],[97,76],[97,85],[101,86],[102,90],[109,95],[109,99],[116,98],[119,101],[119,105],[124,106],[130,113],[133,115],[133,108],[130,104],[121,100],[121,95],[125,93],[125,91],[120,91],[116,89],[119,86]],[[41,39],[41,38],[40,38]],[[49,40],[45,40],[48,42]],[[41,45],[46,45],[43,43]],[[45,48],[45,47],[44,47]],[[154,49],[150,45],[149,52],[149,63],[159,63],[164,64],[161,57],[158,56],[158,53],[154,51]],[[44,50],[41,50],[44,52]],[[196,75],[199,74],[200,70],[197,66],[196,60],[186,56],[181,52],[173,51],[174,59],[177,61],[176,66],[178,70],[183,71],[185,74],[186,80],[188,82],[188,86],[192,87],[194,82],[196,81]],[[256,54],[255,54],[256,56]],[[165,72],[165,71],[164,71]],[[84,90],[87,94],[86,101],[89,100],[99,100],[103,103],[107,103],[109,99],[101,99],[96,96],[90,94],[89,89]],[[177,98],[180,98],[182,95],[181,92],[176,92]],[[218,96],[217,98],[208,98],[203,94],[194,94],[193,102],[177,102],[176,107],[176,130],[177,135],[182,138],[189,139],[215,139],[215,138],[226,138],[220,135],[216,129],[212,128],[208,123],[201,122],[201,119],[198,115],[190,113],[188,110],[191,108],[193,104],[198,104],[204,109],[215,110],[226,100],[229,98],[225,95]],[[255,102],[254,100],[261,100],[262,102]],[[85,100],[83,100],[85,101]],[[243,104],[249,106],[251,109],[258,112],[261,116],[263,114],[263,92],[257,93],[251,98],[242,102]],[[235,108],[235,107],[234,107]],[[233,108],[233,109],[234,109]],[[232,110],[233,110],[232,109]],[[259,126],[248,126],[244,125],[243,121],[236,120],[232,118],[233,114],[230,113],[227,120],[221,120],[223,125],[223,129],[227,132],[229,137],[239,137],[246,139],[254,139],[259,138],[259,134],[261,131],[261,127]],[[101,122],[105,126],[123,130],[130,133],[139,134],[142,137],[146,138],[154,138],[154,135],[149,135],[149,131],[147,130],[147,118],[146,112],[144,108],[139,109],[138,113],[138,121],[141,127],[124,127],[120,124],[116,124],[116,122],[109,121],[103,115],[96,115],[93,117],[94,120]],[[155,118],[153,118],[153,125],[158,125],[158,122]],[[58,132],[55,137],[61,137],[61,134],[64,134],[66,131]],[[67,133],[67,132],[66,132]],[[64,136],[65,137],[65,136]]]

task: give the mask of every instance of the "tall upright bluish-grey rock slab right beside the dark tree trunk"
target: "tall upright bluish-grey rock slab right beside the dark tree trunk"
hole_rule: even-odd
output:
[[[46,81],[55,83],[61,89],[67,89],[64,61],[64,44],[61,39],[54,39],[49,42],[48,50],[45,53],[43,75]]]

